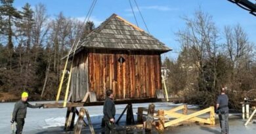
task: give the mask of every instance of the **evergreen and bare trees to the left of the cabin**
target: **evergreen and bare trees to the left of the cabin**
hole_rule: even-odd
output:
[[[0,98],[19,98],[26,90],[33,100],[54,99],[64,68],[61,58],[68,54],[78,33],[82,40],[95,25],[65,17],[62,12],[51,18],[41,3],[33,8],[26,3],[21,10],[12,3],[1,1],[0,5]]]

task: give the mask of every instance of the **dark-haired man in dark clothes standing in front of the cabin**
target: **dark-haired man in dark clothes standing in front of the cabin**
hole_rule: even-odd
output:
[[[106,100],[104,102],[103,114],[105,121],[105,133],[114,133],[116,107],[113,101],[114,95],[112,90],[106,91]]]

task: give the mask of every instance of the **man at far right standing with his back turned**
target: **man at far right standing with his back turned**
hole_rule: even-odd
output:
[[[228,96],[225,94],[226,88],[221,88],[221,95],[218,96],[216,113],[219,114],[221,124],[221,134],[228,134]]]

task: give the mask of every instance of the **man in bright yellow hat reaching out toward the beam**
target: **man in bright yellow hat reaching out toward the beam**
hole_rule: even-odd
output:
[[[28,93],[23,92],[22,93],[22,99],[15,103],[14,109],[12,112],[12,120],[11,124],[16,122],[16,134],[21,134],[23,126],[25,124],[25,118],[27,114],[27,107],[36,109],[36,108],[41,108],[43,105],[31,105],[28,103]]]

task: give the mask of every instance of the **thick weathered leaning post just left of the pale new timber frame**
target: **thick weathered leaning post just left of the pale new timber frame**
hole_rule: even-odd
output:
[[[152,103],[148,105],[148,116],[146,117],[145,132],[150,132],[152,129],[152,123],[154,121],[155,105]]]

